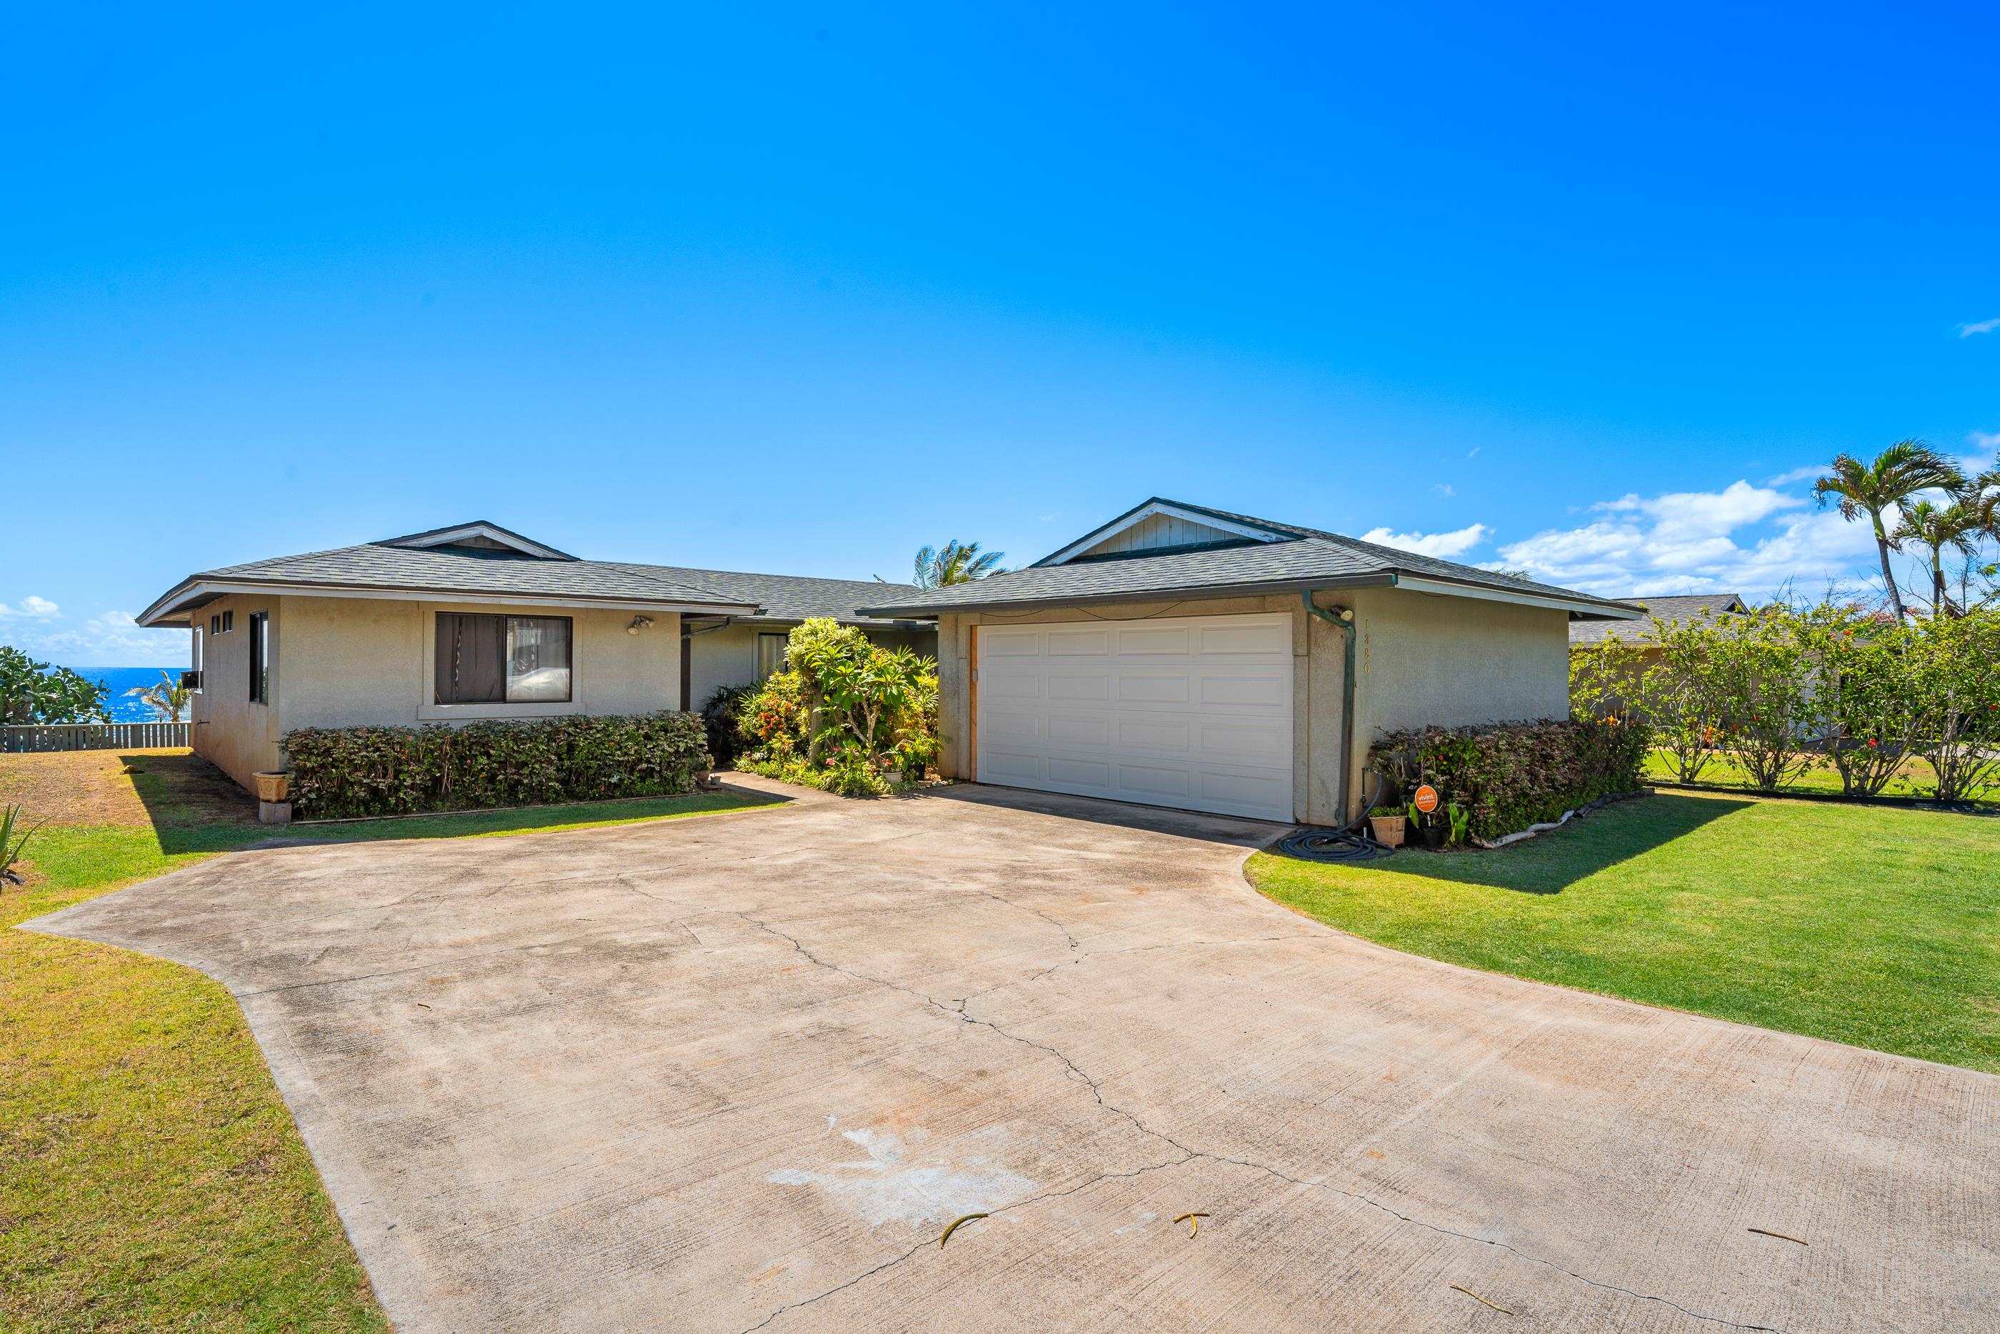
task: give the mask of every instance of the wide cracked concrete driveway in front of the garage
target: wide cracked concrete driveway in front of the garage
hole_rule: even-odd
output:
[[[2000,1320],[2000,1080],[1370,946],[1274,832],[812,796],[34,926],[236,992],[406,1330]]]

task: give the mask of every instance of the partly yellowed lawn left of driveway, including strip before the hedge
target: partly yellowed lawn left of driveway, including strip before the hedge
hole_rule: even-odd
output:
[[[122,772],[126,758],[140,772]],[[28,884],[0,888],[0,928],[276,832],[204,790],[198,766],[184,754],[0,756],[0,802],[58,820],[28,844]],[[286,836],[500,836],[748,804],[700,794]],[[106,812],[118,822],[60,824]],[[0,930],[0,1328],[386,1328],[220,984]]]

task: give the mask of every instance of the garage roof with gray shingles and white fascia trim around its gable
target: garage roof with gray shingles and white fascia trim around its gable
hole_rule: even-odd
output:
[[[1210,544],[1178,550],[1088,554],[1120,524],[1162,510],[1216,520],[1224,536]],[[1094,528],[1026,570],[924,590],[916,598],[876,598],[862,610],[876,616],[926,616],[1034,604],[1366,586],[1400,586],[1418,592],[1554,606],[1572,616],[1640,616],[1634,606],[1538,584],[1514,574],[1158,496],[1126,510],[1116,520]]]

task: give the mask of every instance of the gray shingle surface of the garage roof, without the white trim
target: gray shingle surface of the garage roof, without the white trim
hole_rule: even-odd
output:
[[[1146,504],[1152,504],[1148,500]],[[1360,542],[1338,532],[1278,524],[1248,514],[1230,514],[1208,506],[1164,500],[1182,510],[1210,514],[1236,524],[1286,534],[1274,542],[1182,550],[1162,556],[1130,556],[1118,560],[1088,560],[1062,566],[1028,566],[1010,574],[994,574],[974,584],[934,588],[906,600],[878,598],[864,604],[880,616],[936,614],[972,608],[1030,606],[1038,602],[1092,602],[1100,598],[1134,598],[1146,594],[1192,594],[1238,590],[1294,590],[1340,584],[1390,584],[1394,576],[1430,578],[1470,588],[1518,592],[1540,598],[1560,598],[1602,608],[1606,616],[1622,616],[1634,608],[1592,594],[1538,584],[1514,574],[1462,566],[1452,560],[1418,556],[1392,546]],[[1144,508],[1144,506],[1140,506]],[[1584,612],[1588,614],[1588,612]]]

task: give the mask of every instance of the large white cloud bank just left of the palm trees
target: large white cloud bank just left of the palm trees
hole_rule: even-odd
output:
[[[1818,592],[1874,570],[1868,524],[1806,498],[1732,482],[1716,492],[1620,496],[1592,506],[1600,518],[1548,528],[1500,548],[1500,566],[1550,584],[1602,594],[1742,592],[1784,584]]]

